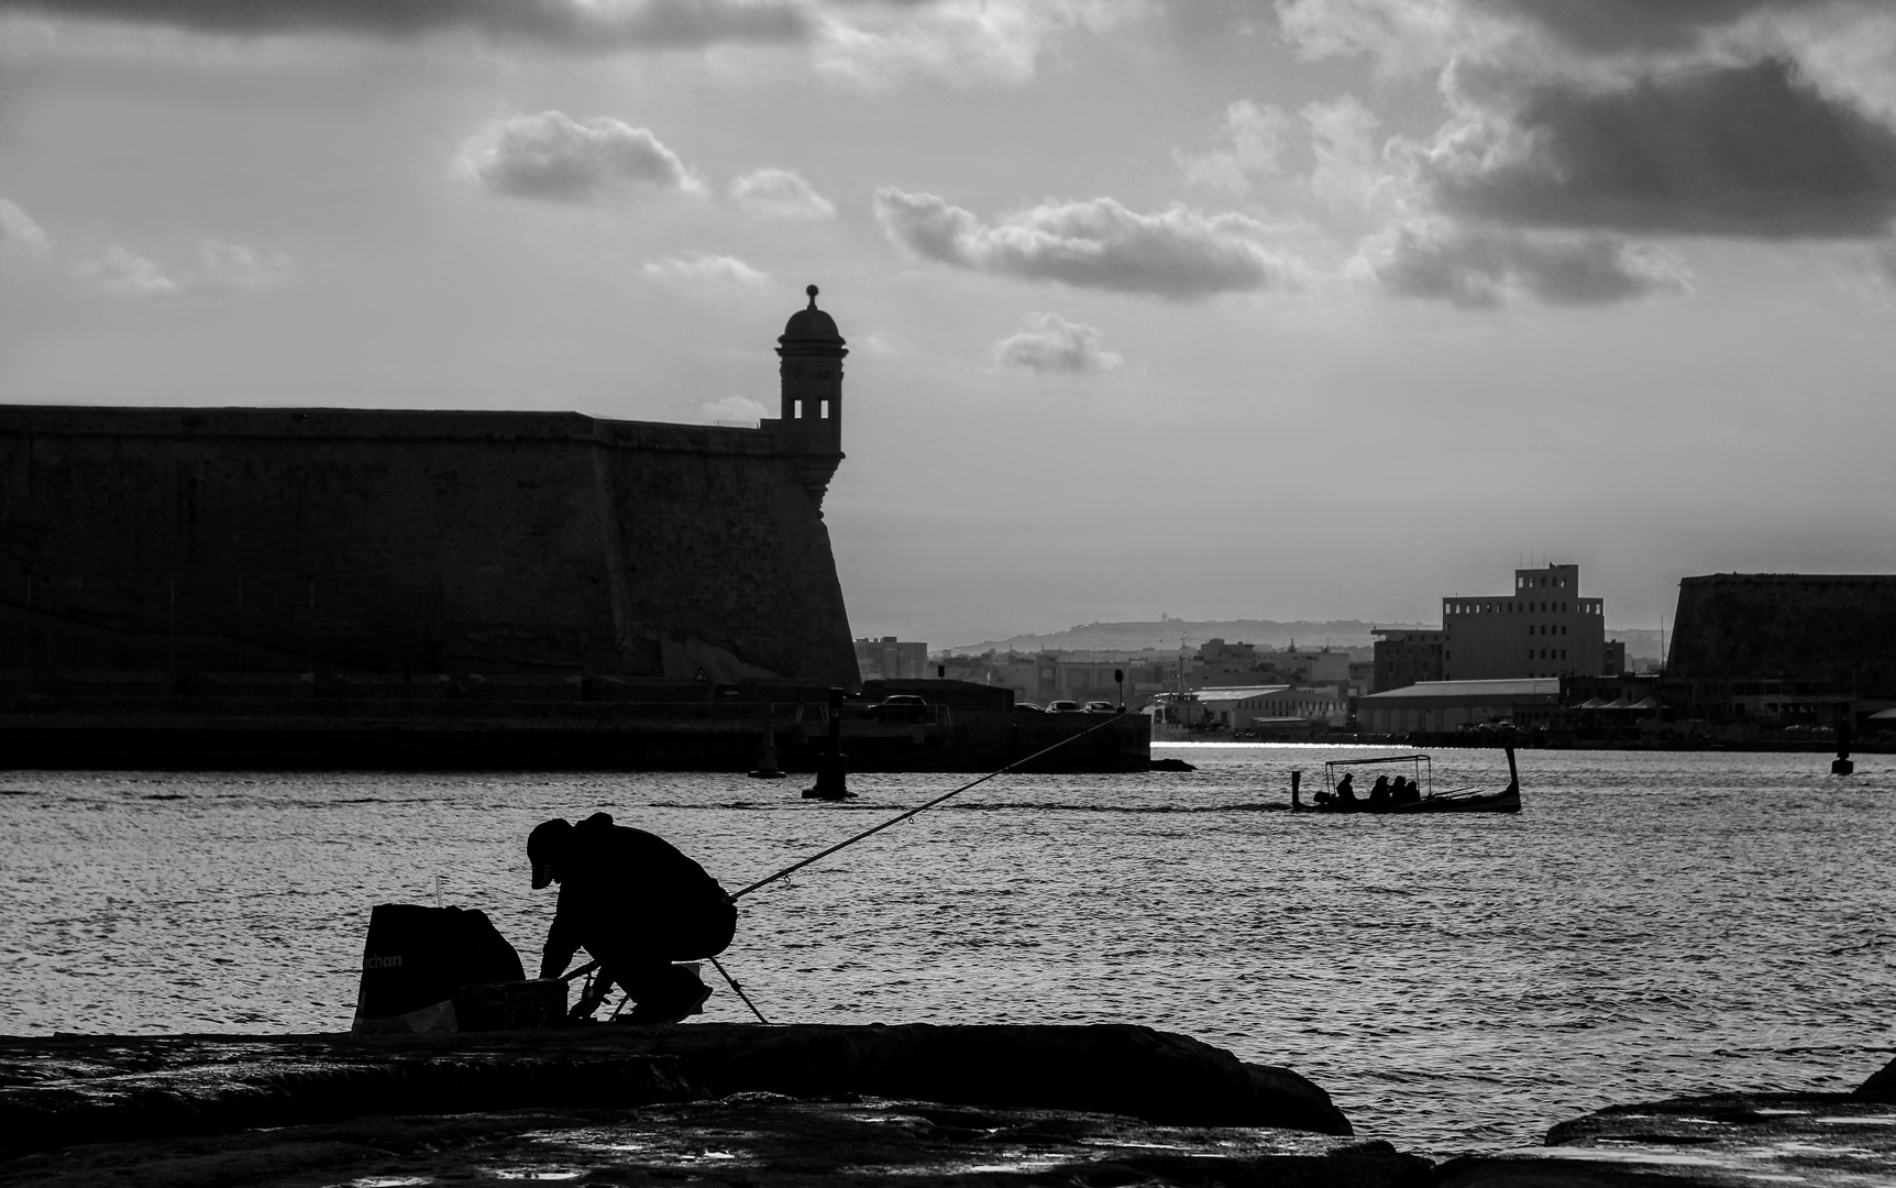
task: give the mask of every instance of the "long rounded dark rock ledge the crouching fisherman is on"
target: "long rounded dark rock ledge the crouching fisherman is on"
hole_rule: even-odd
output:
[[[1348,1135],[1287,1068],[1145,1027],[584,1027],[447,1036],[0,1040],[0,1152],[370,1114],[872,1093]]]

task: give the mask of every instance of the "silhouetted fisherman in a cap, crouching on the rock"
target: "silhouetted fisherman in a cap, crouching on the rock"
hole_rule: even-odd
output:
[[[601,966],[597,989],[574,1015],[592,1015],[612,983],[637,1004],[629,1023],[696,1015],[711,987],[671,962],[717,956],[738,928],[738,905],[717,879],[671,843],[614,826],[595,812],[578,826],[554,818],[527,835],[533,888],[559,884],[540,977],[559,977],[586,949]]]

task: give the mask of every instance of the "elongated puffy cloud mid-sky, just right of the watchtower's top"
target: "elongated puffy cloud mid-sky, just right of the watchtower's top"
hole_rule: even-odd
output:
[[[1060,281],[1174,300],[1287,287],[1293,264],[1265,247],[1270,228],[1246,214],[1172,205],[1128,211],[1111,197],[1047,201],[984,224],[933,194],[876,190],[876,220],[921,256],[1024,281]]]

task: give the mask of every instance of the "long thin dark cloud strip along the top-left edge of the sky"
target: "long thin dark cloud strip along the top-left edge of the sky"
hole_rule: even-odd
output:
[[[0,0],[0,13],[169,25],[195,32],[478,32],[561,47],[785,42],[810,32],[794,0]]]

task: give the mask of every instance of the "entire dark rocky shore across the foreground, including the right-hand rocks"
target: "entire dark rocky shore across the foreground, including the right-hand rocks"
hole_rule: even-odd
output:
[[[1896,1063],[1854,1093],[1718,1095],[1433,1161],[1289,1068],[1128,1025],[588,1027],[455,1036],[0,1038],[0,1184],[1896,1182]]]

